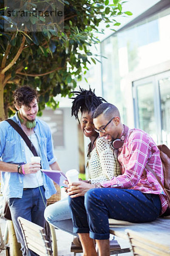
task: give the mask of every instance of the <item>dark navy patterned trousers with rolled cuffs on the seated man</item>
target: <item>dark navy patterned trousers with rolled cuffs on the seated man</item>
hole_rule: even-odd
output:
[[[159,195],[133,189],[90,189],[83,197],[68,199],[75,233],[109,239],[109,218],[133,223],[154,221],[161,211]]]

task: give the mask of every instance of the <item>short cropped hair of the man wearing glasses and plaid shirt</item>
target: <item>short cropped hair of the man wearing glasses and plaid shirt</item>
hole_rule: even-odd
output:
[[[113,116],[119,116],[120,118],[118,108],[111,103],[100,104],[94,111],[92,118],[96,118],[101,114],[103,114],[106,119],[111,119]]]

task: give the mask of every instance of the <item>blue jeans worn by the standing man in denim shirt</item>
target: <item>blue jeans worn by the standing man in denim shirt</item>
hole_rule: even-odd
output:
[[[45,204],[45,189],[43,186],[40,186],[42,196],[44,198]],[[32,251],[26,252],[26,247],[23,241],[23,235],[21,233],[20,225],[17,221],[17,218],[23,217],[28,221],[34,222],[41,227],[45,225],[45,218],[44,218],[44,210],[45,205],[42,200],[42,196],[40,193],[39,187],[34,189],[26,189],[23,190],[23,197],[22,198],[9,198],[8,204],[11,211],[12,222],[14,224],[14,230],[17,236],[17,241],[21,244],[21,251],[23,256],[30,255],[35,256],[36,253]]]

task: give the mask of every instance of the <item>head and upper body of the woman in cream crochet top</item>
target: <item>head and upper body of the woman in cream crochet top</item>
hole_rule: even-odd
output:
[[[77,96],[71,98],[74,99],[72,102],[71,115],[74,115],[79,121],[78,114],[79,111],[81,112],[79,124],[83,134],[91,140],[87,150],[86,168],[88,180],[91,184],[110,180],[113,176],[120,174],[119,164],[116,166],[117,162],[114,158],[110,143],[103,137],[99,138],[99,133],[94,130],[95,127],[92,119],[94,110],[103,101],[106,102],[106,100],[96,96],[91,88],[89,90],[80,88],[79,91],[74,91],[73,93]]]

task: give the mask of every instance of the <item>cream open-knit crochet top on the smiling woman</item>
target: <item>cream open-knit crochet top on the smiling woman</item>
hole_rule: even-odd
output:
[[[91,180],[92,184],[111,180],[113,176],[121,174],[113,148],[103,137],[96,140],[96,147],[90,153],[87,173],[88,180]]]

